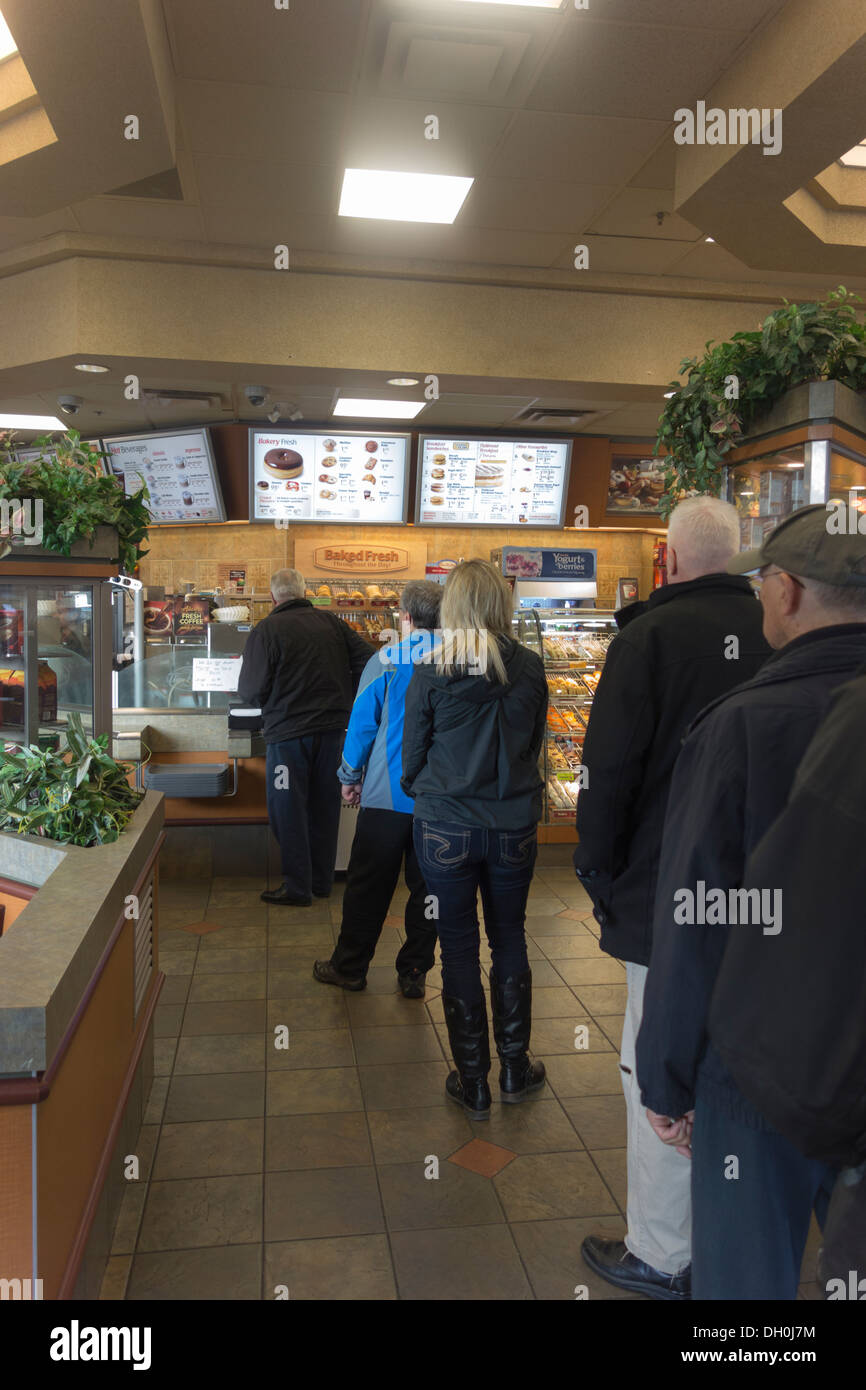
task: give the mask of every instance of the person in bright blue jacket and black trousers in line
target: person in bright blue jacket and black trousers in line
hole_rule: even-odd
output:
[[[343,759],[336,776],[343,801],[359,805],[357,828],[346,872],[343,919],[329,960],[317,960],[313,974],[322,984],[363,990],[393,891],[405,866],[409,901],[406,941],[396,958],[400,990],[407,999],[424,998],[424,977],[434,963],[436,923],[427,915],[427,888],[411,840],[413,802],[400,788],[403,774],[403,713],[416,662],[430,657],[432,630],[439,621],[442,588],[413,580],[400,599],[403,641],[384,646],[361,676]]]

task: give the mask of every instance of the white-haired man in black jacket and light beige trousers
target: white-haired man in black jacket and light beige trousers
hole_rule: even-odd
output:
[[[652,908],[667,792],[691,720],[753,676],[769,656],[760,605],[728,575],[740,545],[735,509],[691,498],[671,514],[669,582],[617,616],[584,742],[588,784],[577,802],[574,866],[592,897],[601,945],[626,962],[621,1080],[628,1116],[626,1240],[588,1236],[587,1264],[651,1298],[687,1298],[689,1165],[659,1144],[637,1086],[634,1044],[652,944]],[[635,605],[637,607],[637,605]]]

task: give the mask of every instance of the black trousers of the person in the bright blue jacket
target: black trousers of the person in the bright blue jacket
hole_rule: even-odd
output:
[[[413,817],[402,810],[363,806],[346,873],[343,919],[331,963],[349,976],[366,976],[382,923],[405,865],[409,902],[406,941],[396,958],[398,974],[427,973],[434,963],[436,923],[424,916],[427,888],[411,841]]]

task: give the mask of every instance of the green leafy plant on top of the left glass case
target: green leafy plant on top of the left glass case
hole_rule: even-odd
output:
[[[42,502],[42,545],[58,555],[70,555],[75,541],[93,545],[97,527],[114,527],[121,567],[132,573],[146,555],[147,489],[126,496],[122,482],[103,474],[99,449],[82,443],[76,430],[44,435],[36,448],[46,450],[43,457],[18,463],[8,435],[0,435],[0,502]],[[11,538],[0,535],[0,559],[10,549]]]

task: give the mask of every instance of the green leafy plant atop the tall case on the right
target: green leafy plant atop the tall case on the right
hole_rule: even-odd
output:
[[[724,456],[780,396],[806,381],[866,386],[866,327],[844,285],[824,300],[783,302],[758,329],[684,357],[659,420],[655,453],[667,456],[662,514],[689,492],[717,493]]]

